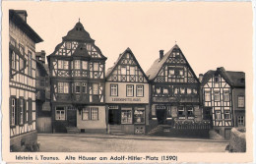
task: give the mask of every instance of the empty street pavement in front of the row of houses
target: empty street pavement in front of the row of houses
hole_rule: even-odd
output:
[[[224,152],[226,140],[92,134],[38,135],[41,152]]]

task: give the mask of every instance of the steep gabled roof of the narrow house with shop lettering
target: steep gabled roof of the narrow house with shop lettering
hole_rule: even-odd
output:
[[[110,67],[110,68],[107,69],[106,74],[105,74],[105,75],[106,75],[106,76],[105,76],[106,80],[107,80],[108,77],[112,74],[112,72],[114,71],[114,69],[119,65],[120,60],[122,59],[123,55],[125,55],[126,53],[130,53],[130,54],[133,56],[133,58],[134,58],[134,60],[135,60],[135,62],[136,62],[136,64],[137,64],[137,66],[138,66],[139,69],[142,71],[143,76],[145,77],[146,81],[148,82],[148,81],[149,81],[148,77],[147,77],[146,74],[144,73],[144,71],[143,71],[143,69],[141,68],[139,62],[137,61],[136,57],[134,56],[132,50],[131,50],[129,47],[128,47],[123,53],[121,53],[121,54],[119,55],[119,57],[117,58],[116,62],[114,63],[114,66],[112,66],[112,67]]]

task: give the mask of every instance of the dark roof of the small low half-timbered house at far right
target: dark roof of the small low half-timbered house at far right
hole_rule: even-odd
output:
[[[209,82],[209,80],[214,76],[220,74],[224,81],[227,82],[230,86],[233,87],[244,87],[245,86],[245,73],[243,72],[231,72],[225,71],[224,67],[217,68],[216,71],[210,70],[204,74],[202,85]]]

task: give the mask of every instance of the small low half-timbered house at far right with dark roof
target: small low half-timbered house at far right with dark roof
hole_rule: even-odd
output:
[[[201,86],[204,113],[211,115],[213,128],[229,138],[232,127],[245,124],[245,74],[221,67],[204,74]]]

